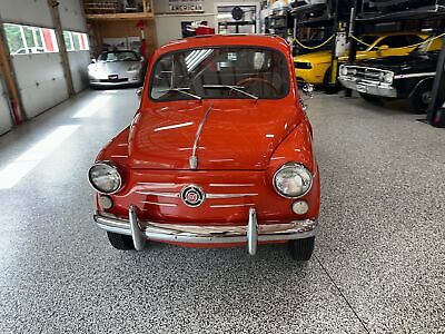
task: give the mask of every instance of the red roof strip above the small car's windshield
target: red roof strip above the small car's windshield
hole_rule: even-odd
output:
[[[184,49],[219,47],[219,46],[251,46],[273,48],[290,56],[290,46],[278,36],[271,35],[202,35],[170,41],[158,49],[158,55]]]

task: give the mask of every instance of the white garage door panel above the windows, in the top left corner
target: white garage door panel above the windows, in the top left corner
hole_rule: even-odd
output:
[[[47,0],[0,0],[3,22],[53,27]]]

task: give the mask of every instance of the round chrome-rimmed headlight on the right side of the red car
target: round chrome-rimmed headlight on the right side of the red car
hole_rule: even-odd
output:
[[[313,185],[313,176],[300,164],[285,164],[275,173],[274,187],[278,195],[298,198],[307,194]]]

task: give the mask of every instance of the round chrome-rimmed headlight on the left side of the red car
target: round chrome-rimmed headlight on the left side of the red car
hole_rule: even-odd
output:
[[[116,165],[111,161],[98,161],[88,171],[91,186],[102,194],[113,194],[120,189],[122,179]]]

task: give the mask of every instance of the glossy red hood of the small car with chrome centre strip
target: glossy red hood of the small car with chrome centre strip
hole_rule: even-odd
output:
[[[197,169],[265,169],[301,117],[295,105],[277,110],[271,101],[250,100],[141,110],[130,129],[130,167],[190,169],[197,140]]]

